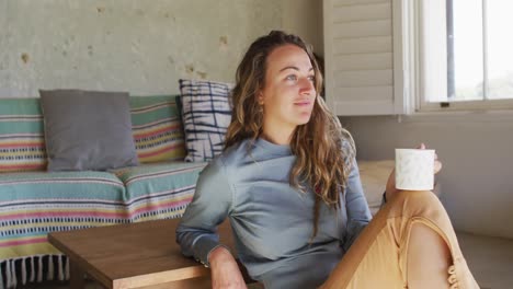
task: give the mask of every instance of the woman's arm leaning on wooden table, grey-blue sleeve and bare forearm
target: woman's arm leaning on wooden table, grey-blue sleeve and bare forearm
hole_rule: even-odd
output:
[[[194,198],[176,229],[176,242],[185,256],[212,267],[213,288],[246,288],[237,262],[219,243],[217,227],[231,210],[233,190],[220,159],[200,175]]]

